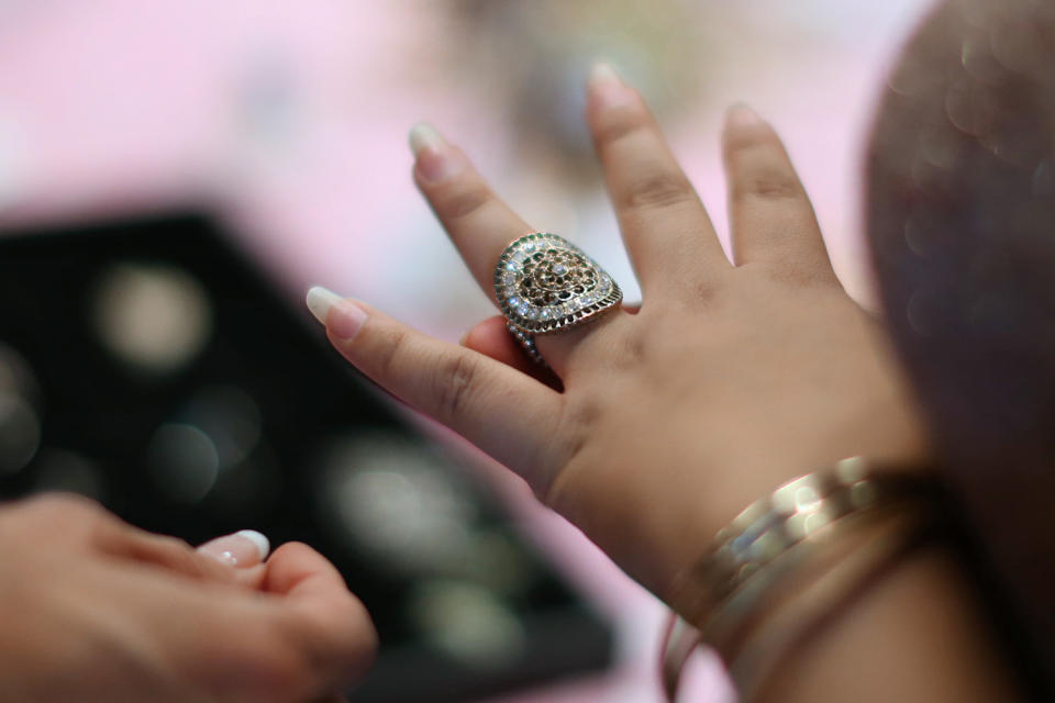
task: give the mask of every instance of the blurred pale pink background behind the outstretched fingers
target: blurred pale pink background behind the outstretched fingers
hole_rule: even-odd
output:
[[[769,119],[837,271],[870,304],[860,157],[886,68],[928,4],[0,0],[0,225],[204,207],[291,304],[319,283],[456,339],[493,311],[411,182],[406,134],[427,120],[633,300],[580,120],[603,58],[652,100],[723,236],[722,112],[746,101]],[[660,604],[488,475],[619,631],[610,673],[501,701],[658,701]],[[732,700],[713,658],[690,679],[687,699]]]

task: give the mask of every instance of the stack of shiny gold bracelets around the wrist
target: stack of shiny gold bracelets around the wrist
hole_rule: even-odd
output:
[[[875,470],[859,457],[749,505],[682,577],[692,600],[681,610],[700,627],[678,618],[668,631],[668,699],[703,643],[723,656],[742,700],[752,700],[799,643],[920,543],[943,505],[932,478]]]

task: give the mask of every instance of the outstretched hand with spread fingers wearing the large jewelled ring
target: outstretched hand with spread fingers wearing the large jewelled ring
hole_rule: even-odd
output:
[[[735,265],[638,94],[604,67],[587,114],[640,311],[538,336],[532,368],[500,319],[462,346],[316,290],[334,346],[393,394],[524,477],[631,576],[677,605],[677,574],[754,499],[851,455],[926,448],[880,326],[843,291],[777,135],[746,108],[724,133]],[[534,231],[465,155],[412,134],[419,187],[491,297]]]

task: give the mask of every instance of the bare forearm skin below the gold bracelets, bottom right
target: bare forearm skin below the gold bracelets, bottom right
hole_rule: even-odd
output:
[[[913,553],[785,660],[758,703],[1024,700],[955,559]],[[754,703],[754,702],[752,702]]]

